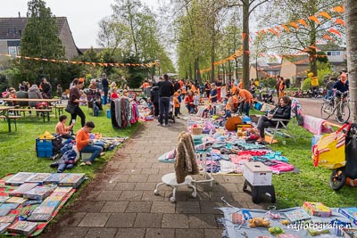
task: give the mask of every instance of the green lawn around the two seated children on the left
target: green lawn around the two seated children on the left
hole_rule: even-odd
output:
[[[132,135],[140,123],[133,127],[126,129],[113,129],[111,119],[106,118],[106,109],[109,107],[104,106],[104,111],[101,111],[99,117],[94,117],[87,113],[87,107],[82,106],[82,111],[86,114],[86,120],[93,120],[95,122],[94,133],[101,133],[104,136],[130,136]],[[64,112],[68,116],[68,121],[71,115]],[[32,113],[34,114],[34,113]],[[12,132],[8,133],[7,122],[0,122],[0,177],[4,177],[10,173],[17,172],[48,172],[55,173],[56,168],[50,168],[49,164],[53,160],[47,158],[37,158],[36,155],[36,138],[38,135],[44,134],[47,130],[50,133],[55,132],[55,125],[58,119],[51,117],[50,122],[43,123],[41,117],[29,117],[28,114],[25,118],[18,119],[17,131],[14,130],[12,124]],[[68,122],[67,122],[68,124]],[[74,132],[80,128],[80,119],[77,118]],[[116,149],[115,149],[116,150]],[[114,151],[115,151],[114,150]],[[95,159],[93,166],[76,166],[66,172],[72,173],[86,173],[87,177],[92,178],[95,176],[95,171],[102,168],[107,160],[112,158],[114,151],[106,152],[103,158]]]

